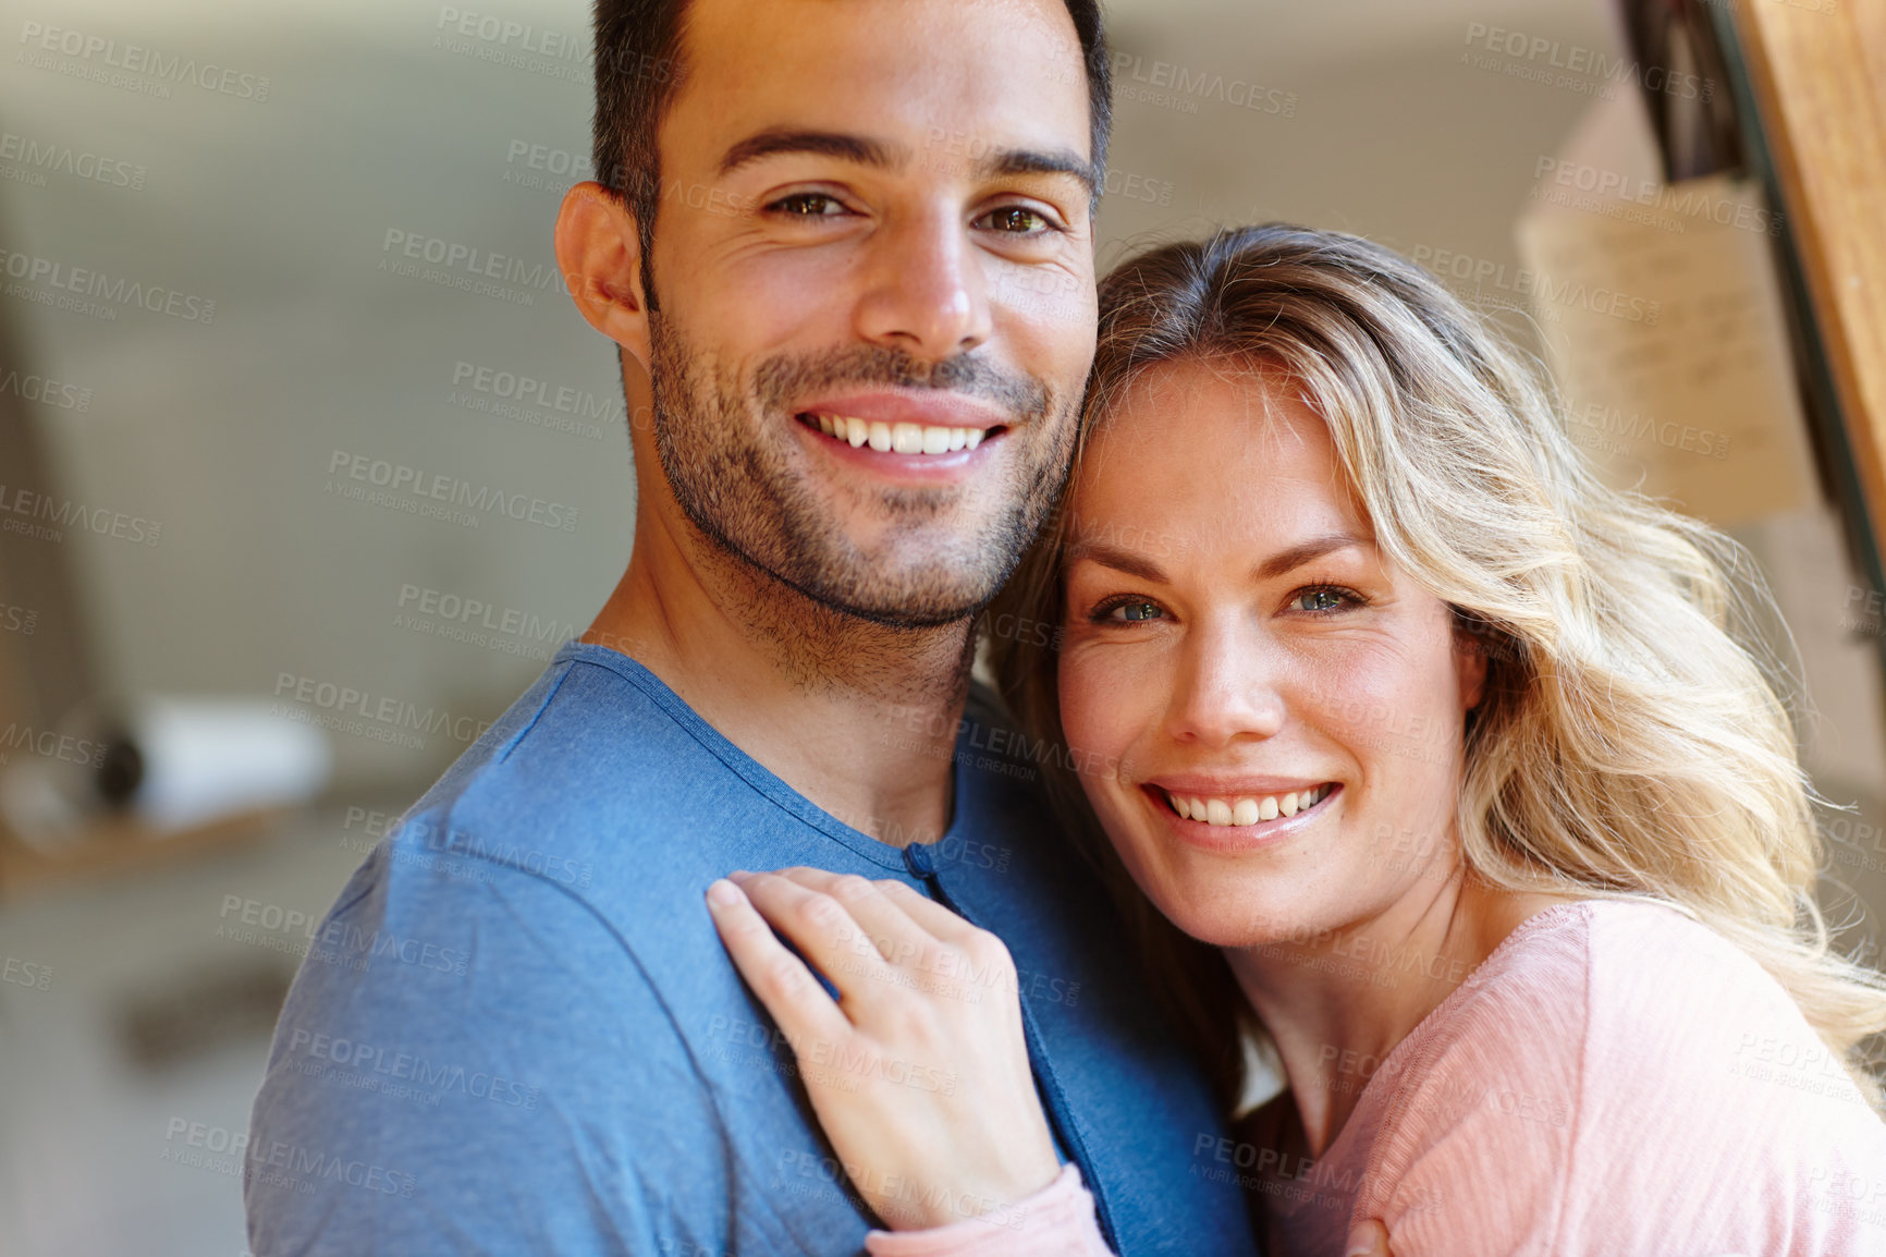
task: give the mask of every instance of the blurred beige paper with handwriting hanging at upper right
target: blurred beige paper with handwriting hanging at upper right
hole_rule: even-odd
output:
[[[1714,525],[1818,500],[1771,255],[1754,187],[1665,185],[1607,104],[1541,159],[1518,223],[1526,287],[1567,428],[1614,485]]]

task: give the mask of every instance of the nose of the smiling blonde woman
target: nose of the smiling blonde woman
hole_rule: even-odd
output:
[[[1177,742],[1230,746],[1284,727],[1284,661],[1264,634],[1228,623],[1198,625],[1173,676],[1167,727]]]

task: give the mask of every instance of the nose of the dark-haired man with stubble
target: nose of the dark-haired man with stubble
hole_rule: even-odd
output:
[[[968,226],[943,210],[886,223],[871,242],[858,336],[941,362],[988,340],[988,285]]]

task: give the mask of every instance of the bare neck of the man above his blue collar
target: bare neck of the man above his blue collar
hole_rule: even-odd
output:
[[[628,572],[583,640],[636,659],[852,829],[903,846],[949,827],[968,621],[892,628],[845,615],[637,511]]]

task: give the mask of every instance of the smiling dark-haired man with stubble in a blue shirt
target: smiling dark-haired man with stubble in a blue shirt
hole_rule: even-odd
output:
[[[964,715],[1094,351],[1096,6],[602,0],[596,66],[624,194],[573,189],[556,251],[622,347],[634,551],[323,923],[255,1108],[256,1257],[858,1251],[883,1219],[702,898],[781,864],[1001,934],[1109,1242],[1250,1251],[1203,1083]]]

